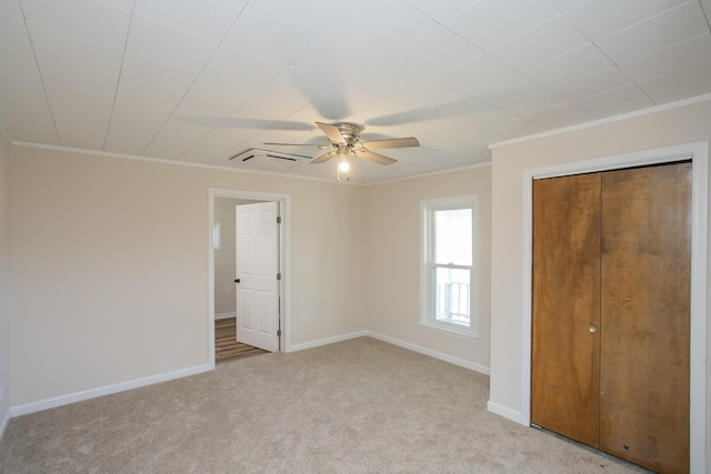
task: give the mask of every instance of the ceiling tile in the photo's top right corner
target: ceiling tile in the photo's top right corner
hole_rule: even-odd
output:
[[[597,43],[614,62],[621,63],[708,32],[703,11],[694,1],[601,38]]]

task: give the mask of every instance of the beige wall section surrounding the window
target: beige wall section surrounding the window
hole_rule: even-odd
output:
[[[478,341],[465,341],[420,327],[420,202],[477,194]],[[368,192],[369,327],[382,335],[489,369],[491,169],[489,165],[452,173],[373,185]]]

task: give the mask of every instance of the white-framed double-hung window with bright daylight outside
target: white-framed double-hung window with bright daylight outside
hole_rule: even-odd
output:
[[[421,213],[420,325],[474,339],[477,196],[422,201]]]

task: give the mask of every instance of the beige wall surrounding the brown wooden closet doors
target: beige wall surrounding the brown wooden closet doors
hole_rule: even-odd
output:
[[[492,403],[511,413],[522,410],[522,282],[530,271],[522,268],[524,170],[708,140],[709,101],[493,150]],[[711,376],[707,375],[707,382]],[[707,413],[711,414],[711,406]]]

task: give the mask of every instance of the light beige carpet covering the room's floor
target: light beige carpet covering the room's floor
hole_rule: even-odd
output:
[[[489,413],[489,377],[370,337],[13,418],[2,473],[629,473]]]

